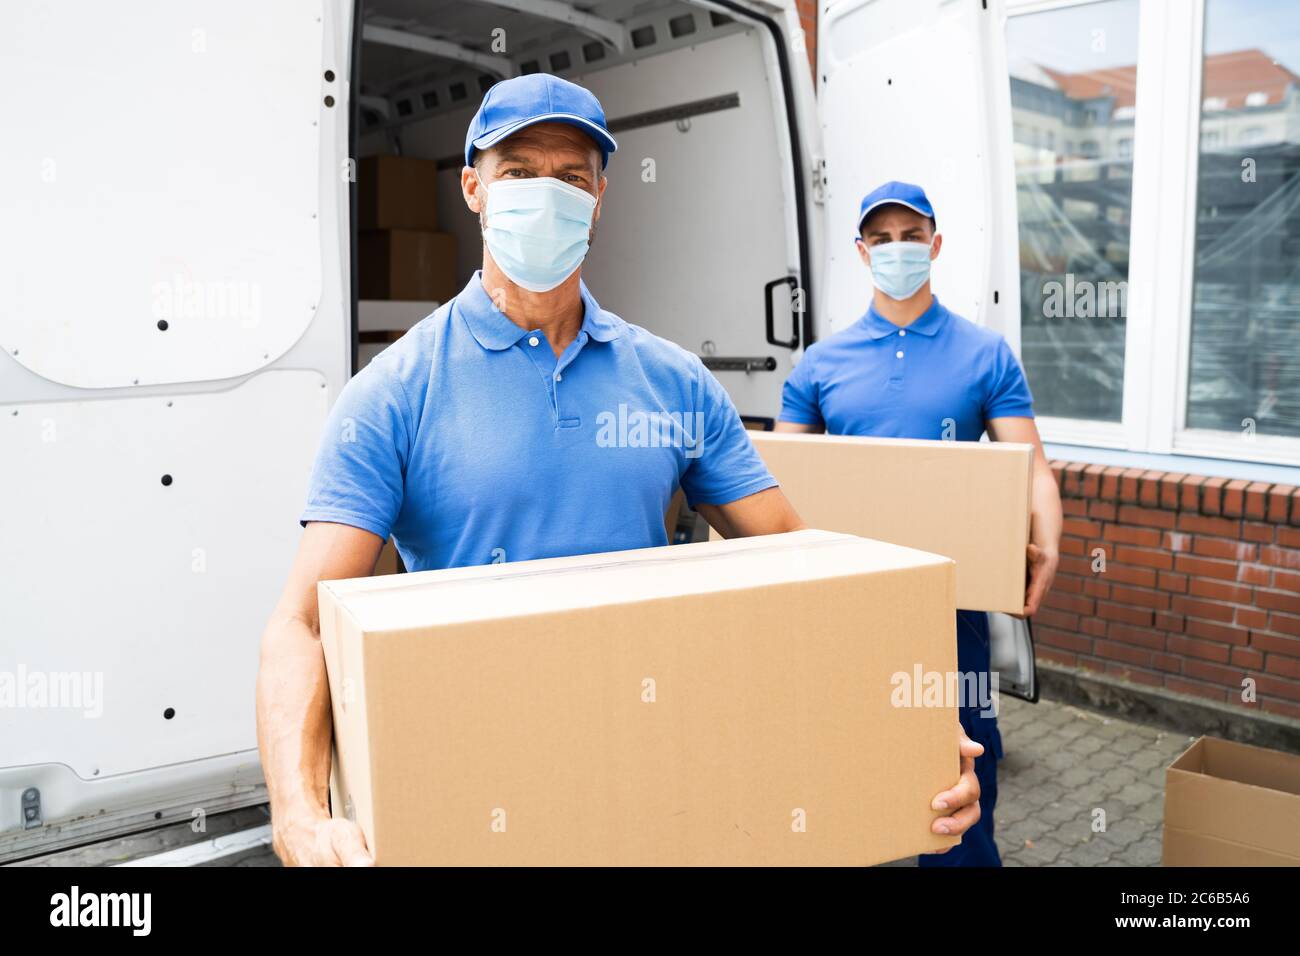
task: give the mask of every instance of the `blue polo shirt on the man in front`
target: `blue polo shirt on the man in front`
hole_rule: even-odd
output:
[[[391,535],[422,571],[663,545],[679,485],[692,505],[776,485],[697,355],[581,295],[556,359],[474,273],[343,389],[303,524]]]

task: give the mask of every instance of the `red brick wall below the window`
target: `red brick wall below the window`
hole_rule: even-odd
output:
[[[1043,659],[1300,718],[1300,489],[1053,462]],[[1256,701],[1242,700],[1243,680]]]

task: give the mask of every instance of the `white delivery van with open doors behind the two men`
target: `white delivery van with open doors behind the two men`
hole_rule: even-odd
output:
[[[936,286],[1017,346],[1000,0],[9,0],[0,12],[0,860],[265,801],[263,627],[358,347],[354,157],[482,91],[595,92],[584,277],[775,418],[863,312],[858,202],[920,182]],[[815,40],[816,74],[807,47]]]

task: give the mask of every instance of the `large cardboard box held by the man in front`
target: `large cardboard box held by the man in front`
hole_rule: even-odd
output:
[[[946,558],[803,531],[318,593],[333,812],[377,864],[862,865],[956,843],[930,801],[958,777],[957,715],[909,683],[957,667]]]

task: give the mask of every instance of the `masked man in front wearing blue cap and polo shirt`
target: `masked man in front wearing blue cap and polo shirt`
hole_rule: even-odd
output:
[[[330,414],[257,680],[286,862],[369,862],[360,829],[328,810],[316,584],[370,574],[389,535],[411,570],[650,548],[667,544],[679,486],[725,537],[802,527],[699,358],[606,312],[580,278],[615,148],[582,87],[546,74],[491,87],[460,179],[482,269],[352,378]],[[647,427],[623,424],[633,419]],[[935,797],[948,810],[936,832],[979,818],[979,752],[961,739],[961,778]]]

